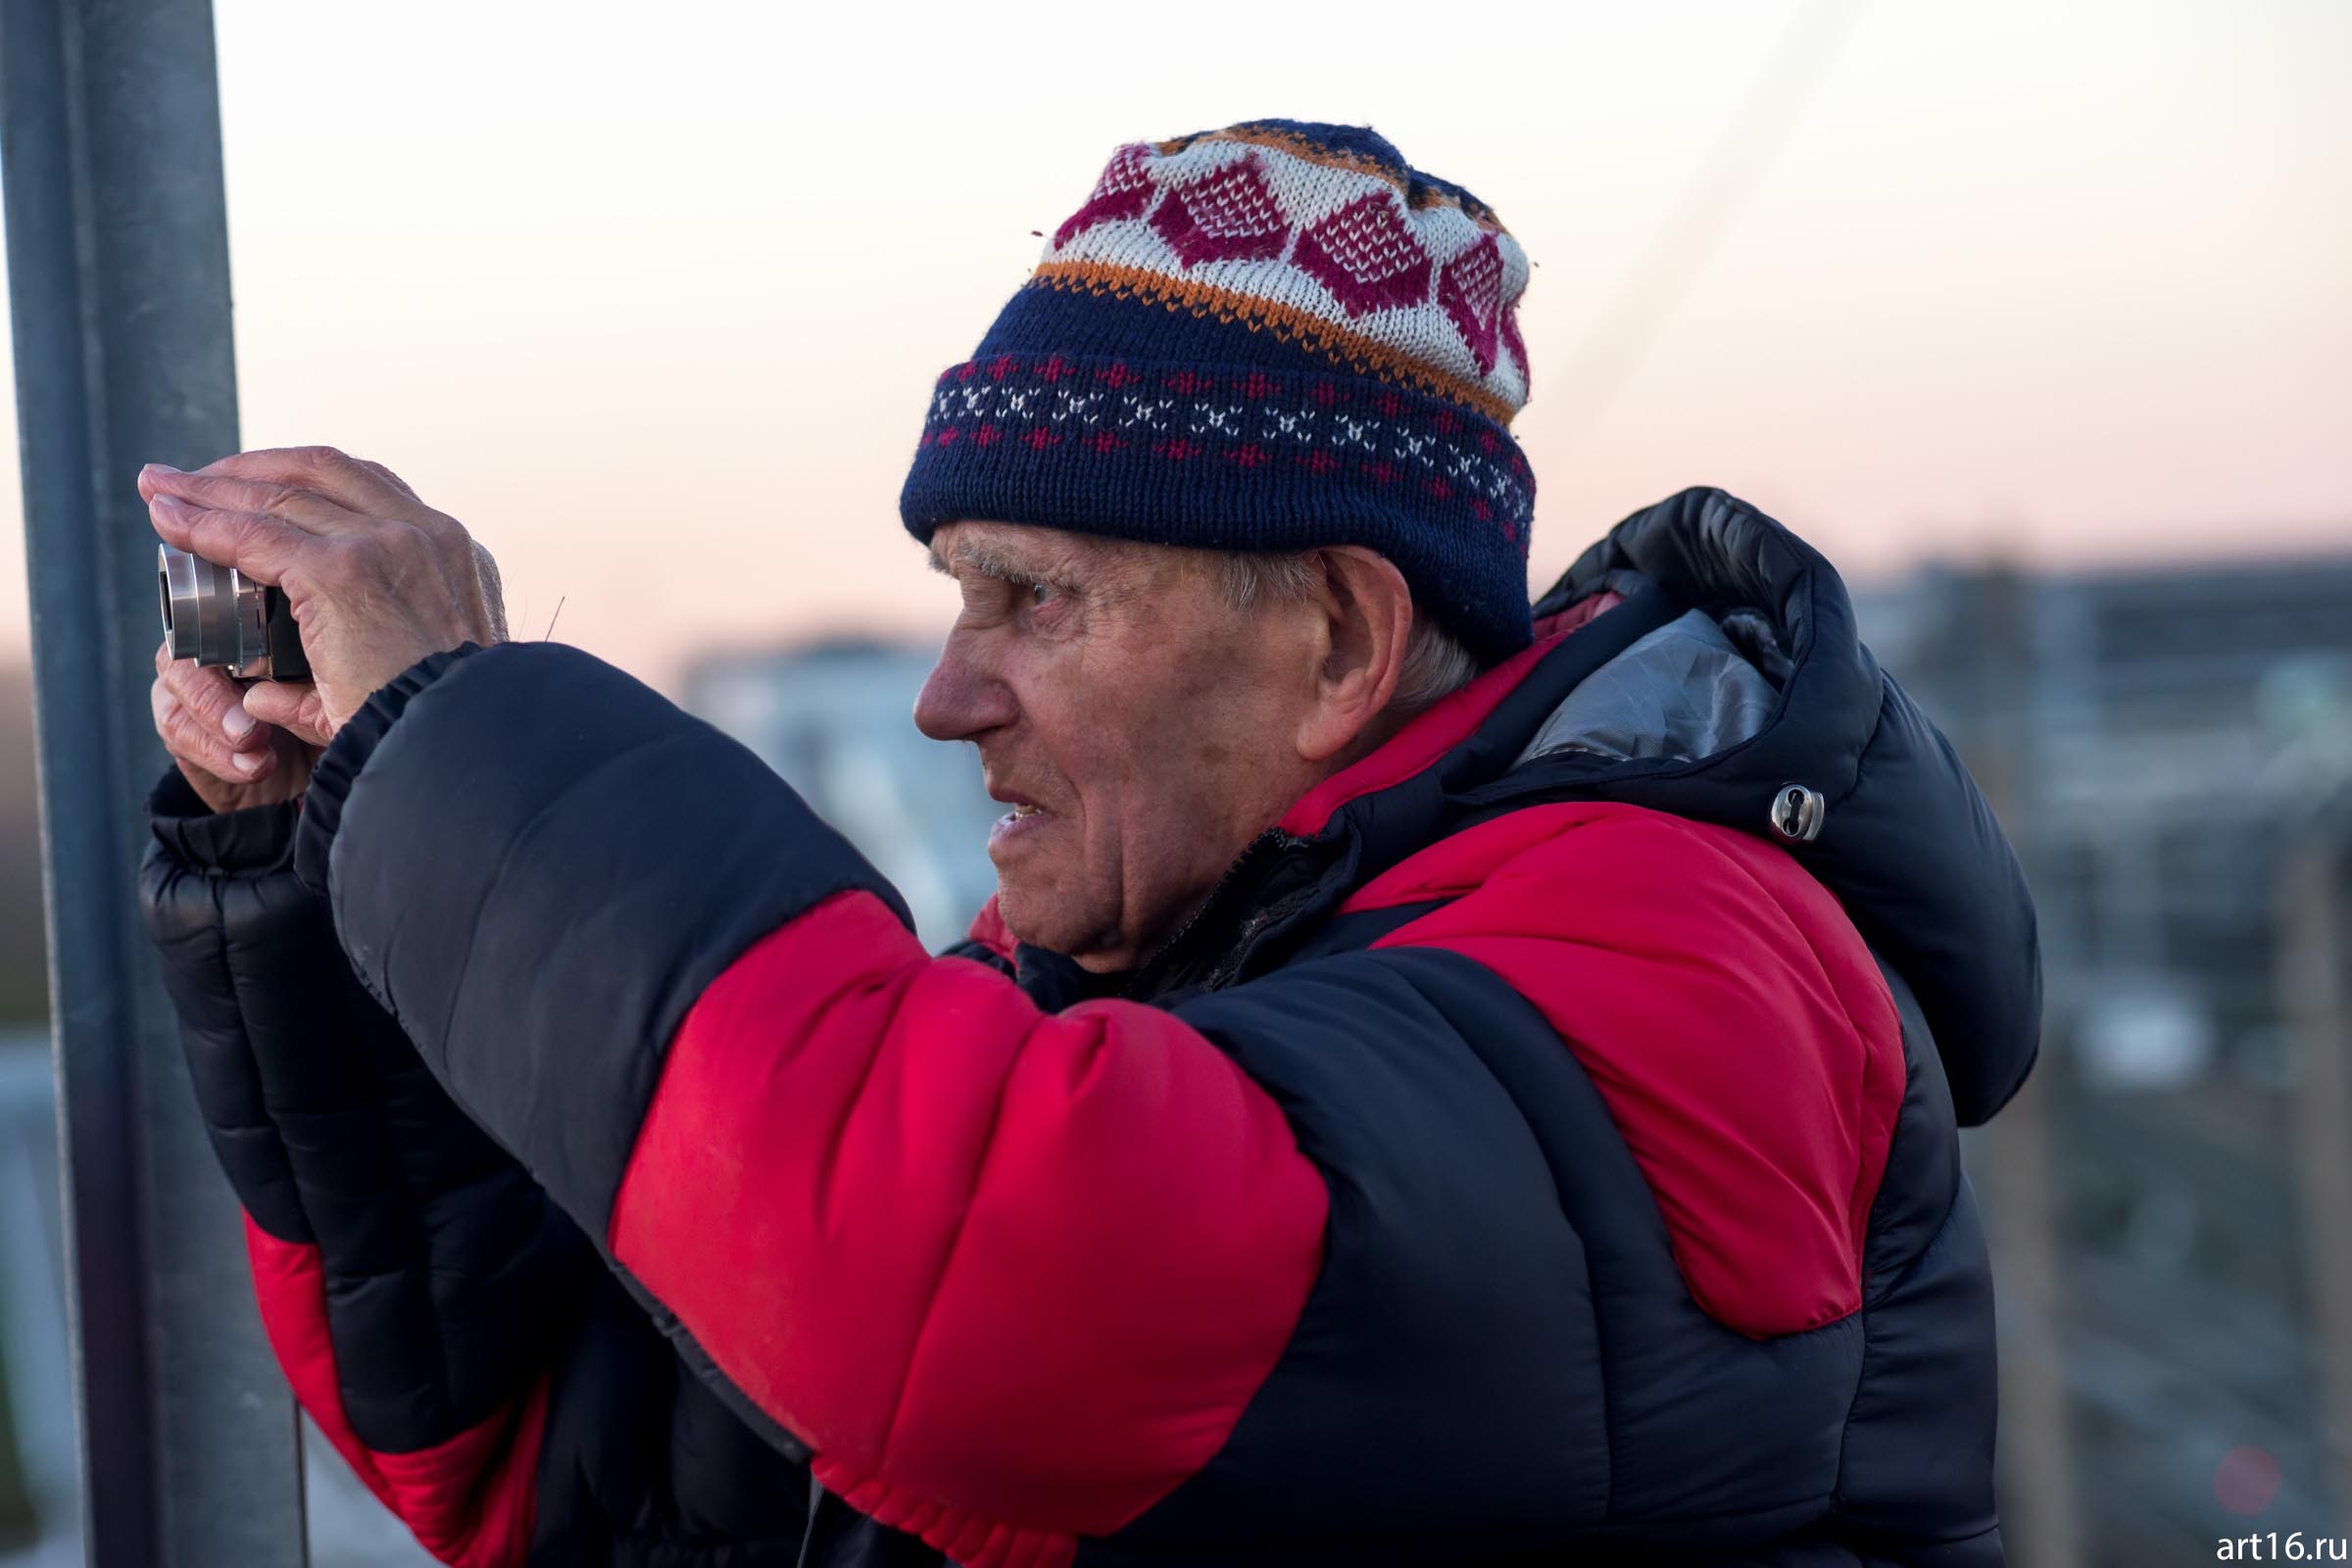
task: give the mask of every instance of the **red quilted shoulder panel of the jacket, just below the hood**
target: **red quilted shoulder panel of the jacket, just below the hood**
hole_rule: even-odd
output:
[[[1788,851],[1663,811],[1545,804],[1458,832],[1350,907],[1446,900],[1378,947],[1477,961],[1536,1006],[1642,1166],[1717,1321],[1860,1307],[1903,1034],[1837,900]]]

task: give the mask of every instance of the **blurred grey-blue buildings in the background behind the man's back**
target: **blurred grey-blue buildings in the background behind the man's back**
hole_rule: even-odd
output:
[[[1969,1150],[2020,1561],[2340,1535],[2352,1093],[2343,990],[2314,1020],[2293,954],[2324,940],[2326,973],[2352,966],[2352,919],[2314,926],[2352,907],[2352,559],[1931,571],[1858,609],[1985,783],[2042,912],[2032,1103]],[[2251,1490],[2223,1476],[2232,1453]],[[2277,1493],[2241,1514],[2263,1455]]]

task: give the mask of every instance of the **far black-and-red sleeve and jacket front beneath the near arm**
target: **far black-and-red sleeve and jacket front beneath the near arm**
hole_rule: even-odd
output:
[[[266,1237],[273,1345],[435,1556],[767,1563],[809,1544],[807,1561],[938,1561],[837,1497],[811,1521],[807,1467],[680,1366],[588,1237],[449,1100],[296,882],[303,809],[214,816],[176,771],[148,809],[139,896],[212,1145]],[[282,1300],[287,1260],[325,1281],[325,1368],[320,1293]]]

